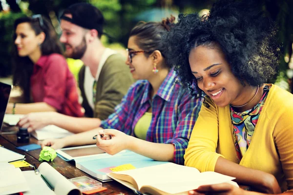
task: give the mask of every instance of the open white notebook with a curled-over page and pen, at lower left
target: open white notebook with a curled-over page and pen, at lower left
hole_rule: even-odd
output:
[[[73,183],[48,163],[43,162],[38,170],[40,172],[38,175],[35,174],[35,171],[22,172],[30,187],[30,190],[26,191],[24,195],[82,195]],[[54,191],[47,186],[41,175],[52,185]]]

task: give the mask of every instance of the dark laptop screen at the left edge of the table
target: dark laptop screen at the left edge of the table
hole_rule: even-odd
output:
[[[2,128],[3,118],[6,112],[11,89],[12,85],[0,82],[0,130]]]

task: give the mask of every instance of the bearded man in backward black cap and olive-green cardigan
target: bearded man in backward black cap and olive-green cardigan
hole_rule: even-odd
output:
[[[114,112],[134,79],[125,64],[126,58],[102,44],[103,24],[101,11],[88,3],[73,4],[61,16],[60,41],[65,46],[65,55],[84,62],[79,72],[79,87],[85,117],[30,113],[20,119],[19,126],[31,132],[53,124],[80,133],[99,127],[101,120]]]

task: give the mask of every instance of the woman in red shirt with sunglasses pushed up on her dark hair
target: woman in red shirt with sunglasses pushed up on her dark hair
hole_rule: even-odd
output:
[[[41,15],[14,23],[13,84],[20,98],[11,98],[6,113],[54,111],[82,117],[76,80],[68,69],[56,32]]]

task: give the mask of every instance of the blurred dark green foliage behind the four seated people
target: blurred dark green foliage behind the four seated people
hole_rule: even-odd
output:
[[[1,11],[0,6],[0,77],[11,74],[10,47],[12,45],[13,22],[24,15],[42,14],[51,19],[56,31],[60,34],[58,18],[63,10],[77,2],[88,2],[98,7],[106,20],[105,33],[110,37],[102,37],[106,46],[115,49],[123,49],[127,45],[130,29],[144,16],[143,20],[153,20],[148,10],[159,9],[172,10],[180,13],[192,13],[201,9],[210,9],[215,0],[6,0],[10,11]],[[286,70],[288,60],[284,57],[292,56],[293,43],[293,0],[259,0],[263,3],[263,9],[279,26],[279,39],[283,44],[284,56],[280,60],[280,74],[277,81],[287,82]],[[145,13],[144,15],[141,15]],[[151,12],[149,12],[151,13]],[[161,19],[156,19],[161,20]],[[287,58],[287,59],[288,59]],[[293,59],[292,59],[293,62]],[[68,63],[76,75],[81,61],[68,59]]]

